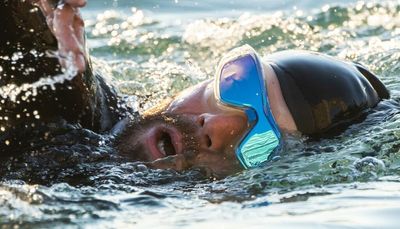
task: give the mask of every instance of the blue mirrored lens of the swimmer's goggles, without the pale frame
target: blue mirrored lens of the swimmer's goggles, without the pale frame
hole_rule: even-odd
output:
[[[217,80],[222,102],[254,109],[257,114],[257,123],[236,149],[237,157],[245,168],[267,161],[280,144],[280,133],[272,114],[265,110],[266,106],[269,109],[269,105],[263,88],[264,79],[255,61],[250,54],[230,61],[223,66]]]

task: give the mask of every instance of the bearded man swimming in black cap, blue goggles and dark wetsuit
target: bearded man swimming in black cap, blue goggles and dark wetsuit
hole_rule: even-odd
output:
[[[177,170],[205,167],[223,176],[271,160],[285,134],[336,134],[389,98],[382,82],[361,64],[308,51],[278,52],[261,60],[244,46],[226,54],[215,79],[132,118],[114,89],[93,74],[79,14],[85,3],[31,0],[0,5],[2,15],[18,15],[1,24],[0,56],[19,50],[22,58],[16,63],[36,69],[23,77],[16,63],[3,58],[2,87],[59,74],[68,64],[76,69],[71,81],[57,84],[54,91],[39,90],[35,100],[20,96],[15,103],[15,98],[3,96],[0,112],[7,120],[0,120],[5,128],[0,140],[12,141],[3,144],[2,154],[18,143],[18,128],[37,123],[31,115],[35,113],[40,115],[37,125],[63,119],[100,133],[120,130],[116,148],[131,160]],[[32,10],[37,9],[32,4],[40,10]],[[59,60],[35,56],[32,49],[58,50]],[[30,115],[15,118],[24,113]]]

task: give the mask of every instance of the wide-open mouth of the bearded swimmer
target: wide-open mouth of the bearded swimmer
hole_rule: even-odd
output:
[[[174,127],[160,126],[150,131],[147,147],[152,160],[182,153],[182,134]]]

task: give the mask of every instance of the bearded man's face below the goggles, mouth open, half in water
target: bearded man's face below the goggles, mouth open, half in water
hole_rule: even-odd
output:
[[[235,147],[248,129],[243,111],[219,104],[213,81],[189,88],[144,115],[121,137],[119,150],[156,167],[205,167],[216,175],[239,171]]]

